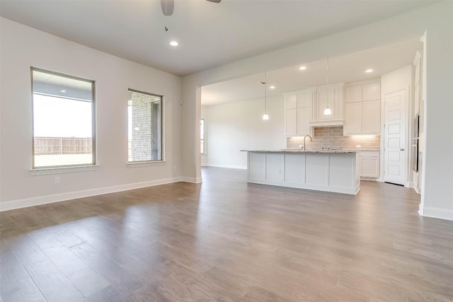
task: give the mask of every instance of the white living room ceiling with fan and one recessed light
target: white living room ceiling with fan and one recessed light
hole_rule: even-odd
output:
[[[175,0],[173,16],[163,16],[156,0],[0,0],[0,15],[185,76],[435,2]],[[168,45],[173,39],[180,46]]]

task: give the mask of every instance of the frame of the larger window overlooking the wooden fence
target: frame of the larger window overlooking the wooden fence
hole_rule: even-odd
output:
[[[74,165],[48,165],[48,166],[35,166],[35,110],[34,110],[34,81],[33,71],[42,72],[45,74],[51,74],[53,76],[62,76],[68,79],[77,81],[84,81],[91,83],[91,163],[82,163]],[[31,148],[32,148],[32,167],[30,172],[32,175],[45,175],[54,173],[65,173],[65,172],[78,172],[84,170],[97,170],[97,139],[96,139],[96,81],[85,79],[80,76],[72,76],[70,74],[64,74],[58,71],[52,71],[50,69],[43,69],[35,66],[30,66],[30,80],[31,80]],[[74,98],[68,98],[74,100]],[[83,100],[80,100],[81,102]],[[34,173],[33,173],[34,172]]]

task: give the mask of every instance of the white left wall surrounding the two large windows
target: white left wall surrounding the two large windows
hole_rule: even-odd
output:
[[[181,79],[1,18],[0,207],[11,209],[180,180]],[[98,170],[30,175],[30,66],[96,81]],[[164,95],[163,165],[127,168],[127,88]]]

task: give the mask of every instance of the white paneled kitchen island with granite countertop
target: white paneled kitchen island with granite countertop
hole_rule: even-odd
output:
[[[247,152],[247,182],[346,194],[360,190],[360,151],[241,151]]]

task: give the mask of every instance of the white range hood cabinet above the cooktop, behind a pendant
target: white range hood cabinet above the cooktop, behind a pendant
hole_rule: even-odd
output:
[[[313,126],[328,126],[343,124],[343,83],[320,86],[316,89],[316,98],[311,100],[311,124]],[[331,115],[324,115],[324,110],[330,108]]]

